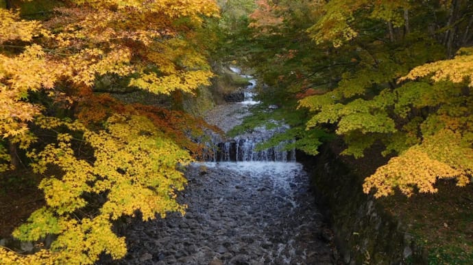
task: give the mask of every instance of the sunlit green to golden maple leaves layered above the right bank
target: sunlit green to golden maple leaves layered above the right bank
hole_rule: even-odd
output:
[[[451,8],[450,2],[437,4],[442,12]],[[428,23],[409,24],[425,16],[425,8],[413,1],[337,0],[319,8],[323,13],[308,33],[318,46],[337,48],[334,61],[346,54],[352,65],[336,85],[300,100],[300,107],[311,111],[307,128],[335,124],[348,145],[342,154],[361,157],[378,143],[385,145],[383,155],[397,155],[366,179],[365,193],[376,189],[376,197],[396,188],[407,195],[435,192],[438,178],[467,184],[473,151],[472,49],[442,60],[445,47],[439,44],[445,41],[436,44],[440,37],[427,31]],[[469,16],[471,6],[461,8]],[[469,26],[464,27],[455,29],[468,38]]]

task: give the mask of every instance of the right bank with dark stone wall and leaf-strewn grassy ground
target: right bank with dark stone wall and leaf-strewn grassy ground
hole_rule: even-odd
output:
[[[322,145],[317,156],[298,153],[311,174],[317,205],[328,217],[345,264],[471,264],[471,186],[440,181],[435,194],[399,192],[374,199],[362,191],[386,158],[374,150],[354,160],[337,155],[337,144]]]

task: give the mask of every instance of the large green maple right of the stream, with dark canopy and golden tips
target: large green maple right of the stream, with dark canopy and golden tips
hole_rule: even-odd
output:
[[[254,53],[267,57],[257,69],[271,94],[300,99],[270,102],[309,112],[300,140],[326,130],[343,138],[342,154],[355,157],[384,145],[393,158],[364,184],[376,197],[395,188],[433,193],[438,178],[470,182],[471,51],[460,48],[472,43],[469,1],[265,3],[283,22],[266,36],[258,31],[256,41],[269,40],[271,51]],[[254,25],[263,27],[257,14]],[[319,141],[306,143],[317,153]]]

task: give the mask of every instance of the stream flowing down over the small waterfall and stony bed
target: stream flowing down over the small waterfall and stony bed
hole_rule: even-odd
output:
[[[258,104],[250,82],[243,102],[217,107],[208,122],[224,131],[239,124]],[[189,184],[178,197],[189,206],[184,217],[134,221],[124,233],[128,255],[111,264],[337,264],[332,232],[295,151],[254,150],[274,132],[215,139],[207,162],[186,169]]]

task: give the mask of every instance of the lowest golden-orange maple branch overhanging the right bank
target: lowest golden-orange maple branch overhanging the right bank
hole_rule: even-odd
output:
[[[415,189],[421,193],[435,193],[434,184],[438,178],[455,178],[458,186],[465,186],[470,183],[472,172],[471,144],[462,143],[459,133],[441,130],[376,169],[365,179],[363,191],[369,193],[376,188],[375,197],[391,195],[395,187],[407,196]]]

